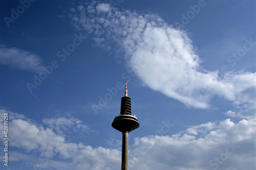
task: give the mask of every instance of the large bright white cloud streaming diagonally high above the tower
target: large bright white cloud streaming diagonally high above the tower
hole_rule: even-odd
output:
[[[79,11],[69,13],[72,25],[92,34],[106,50],[123,52],[127,68],[145,86],[195,108],[211,107],[217,95],[232,101],[233,111],[243,112],[241,117],[255,116],[256,74],[227,72],[220,78],[218,70],[202,68],[186,31],[156,14],[118,10],[96,1],[74,8]]]

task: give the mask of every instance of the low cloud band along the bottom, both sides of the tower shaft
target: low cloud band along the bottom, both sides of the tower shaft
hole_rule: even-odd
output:
[[[3,122],[0,126],[3,127]],[[42,169],[118,169],[121,166],[120,150],[68,142],[52,129],[18,118],[9,123],[9,128],[10,147],[20,149],[10,154],[12,161],[29,159],[31,166]],[[135,138],[130,143],[129,169],[253,169],[255,128],[256,118],[238,123],[226,119],[191,126],[172,136]],[[22,153],[23,150],[26,152]],[[40,159],[31,159],[27,155],[30,152],[39,153]]]

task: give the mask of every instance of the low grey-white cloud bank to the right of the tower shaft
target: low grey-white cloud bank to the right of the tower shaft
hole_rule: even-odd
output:
[[[253,169],[255,126],[256,119],[237,124],[226,119],[200,126],[208,131],[203,136],[197,135],[201,130],[195,126],[173,136],[136,138],[132,169]]]

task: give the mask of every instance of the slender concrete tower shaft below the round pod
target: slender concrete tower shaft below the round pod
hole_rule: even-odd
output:
[[[129,132],[123,132],[123,141],[122,141],[122,166],[121,170],[128,170],[128,139]]]

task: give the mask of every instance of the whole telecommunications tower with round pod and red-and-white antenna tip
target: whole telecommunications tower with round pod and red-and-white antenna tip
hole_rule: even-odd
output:
[[[128,136],[129,132],[140,126],[137,117],[132,115],[131,98],[127,95],[127,81],[125,82],[125,93],[121,98],[121,109],[119,116],[113,120],[112,127],[122,132],[122,165],[121,170],[128,170]]]

